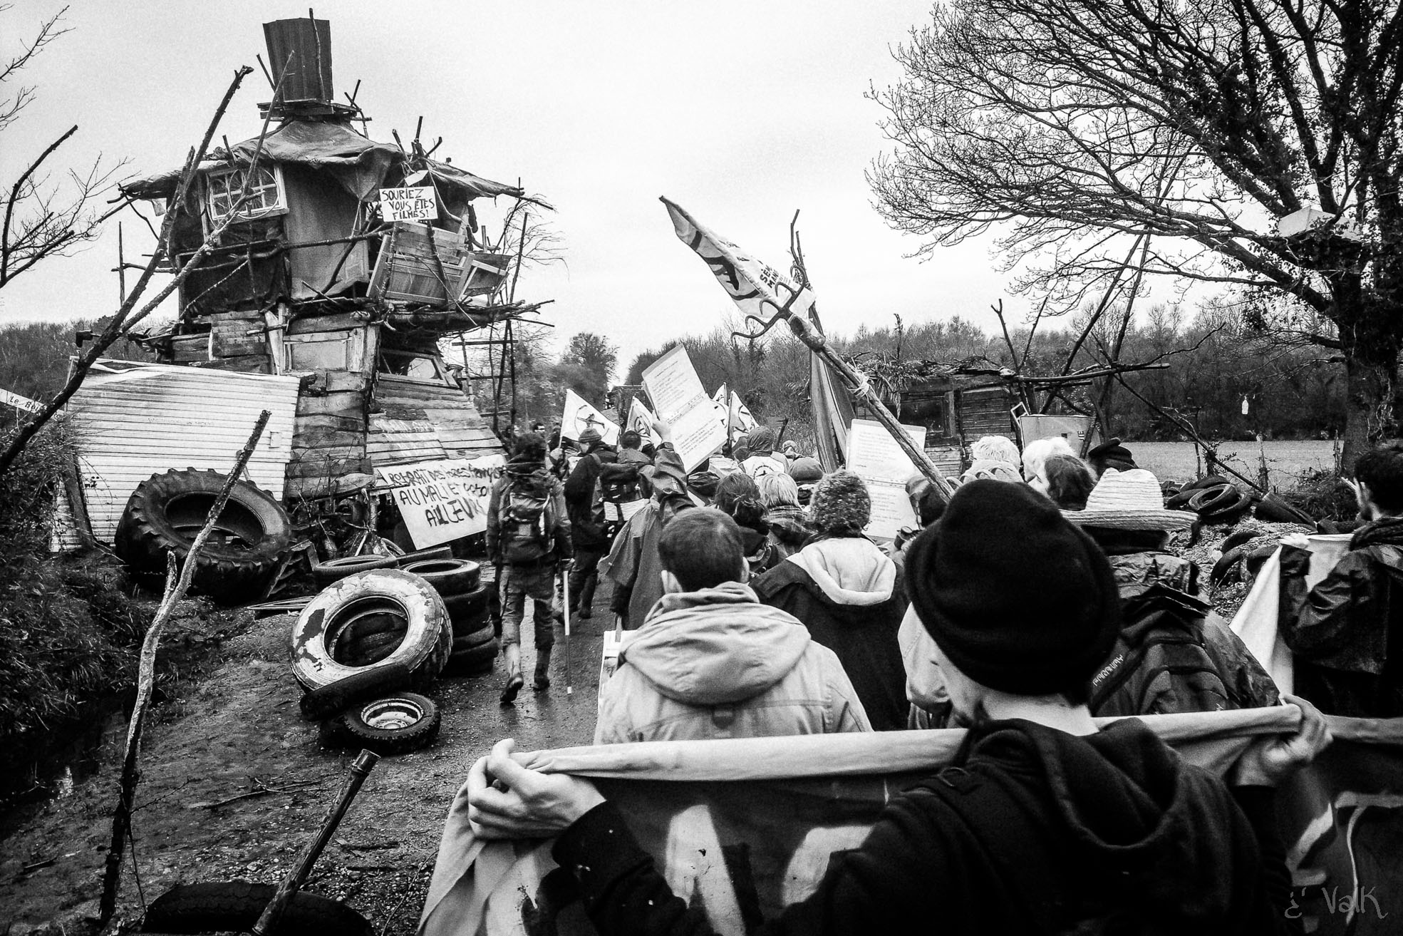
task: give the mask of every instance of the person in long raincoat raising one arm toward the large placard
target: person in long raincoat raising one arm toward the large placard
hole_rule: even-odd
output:
[[[687,497],[687,473],[682,459],[672,450],[671,429],[665,422],[657,422],[654,431],[662,435],[662,445],[648,476],[652,497],[623,525],[609,557],[599,566],[599,573],[613,584],[609,609],[623,619],[629,630],[641,627],[652,605],[662,598],[658,540],[664,528],[679,512],[696,507]]]

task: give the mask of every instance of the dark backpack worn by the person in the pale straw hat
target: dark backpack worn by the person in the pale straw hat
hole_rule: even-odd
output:
[[[1207,602],[1162,582],[1128,599],[1110,660],[1092,678],[1092,714],[1236,709],[1222,667],[1204,637],[1209,609]]]

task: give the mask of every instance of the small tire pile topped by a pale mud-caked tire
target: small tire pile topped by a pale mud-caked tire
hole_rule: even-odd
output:
[[[431,744],[439,710],[415,690],[443,671],[453,643],[448,608],[419,575],[372,568],[327,585],[292,630],[302,711],[323,720],[323,744],[404,754]]]

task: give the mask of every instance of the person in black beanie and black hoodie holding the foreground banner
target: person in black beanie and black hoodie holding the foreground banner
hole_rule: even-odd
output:
[[[1086,686],[1118,598],[1092,540],[1023,484],[971,481],[913,543],[911,601],[958,721],[955,762],[892,794],[773,933],[1284,933],[1291,878],[1273,787],[1329,742],[1319,711],[1253,741],[1226,783],[1138,718],[1099,728]],[[483,838],[556,836],[602,936],[714,932],[588,780],[499,741],[469,772]]]

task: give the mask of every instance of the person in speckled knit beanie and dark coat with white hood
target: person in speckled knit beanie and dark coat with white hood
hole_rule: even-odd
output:
[[[833,472],[814,491],[817,536],[758,575],[755,594],[787,610],[814,640],[838,654],[875,731],[906,727],[906,672],[897,631],[906,610],[891,559],[863,535],[871,519],[867,486]]]

